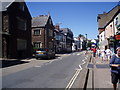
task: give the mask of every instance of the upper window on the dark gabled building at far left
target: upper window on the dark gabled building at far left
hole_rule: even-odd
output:
[[[17,29],[26,30],[27,29],[27,22],[20,17],[17,17]]]

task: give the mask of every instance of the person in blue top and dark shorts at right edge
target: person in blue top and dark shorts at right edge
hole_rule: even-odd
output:
[[[111,80],[114,90],[117,88],[117,83],[120,83],[120,47],[116,49],[117,54],[113,55],[110,60]]]

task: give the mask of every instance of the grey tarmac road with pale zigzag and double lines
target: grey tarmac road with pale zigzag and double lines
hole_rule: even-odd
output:
[[[3,75],[2,86],[3,88],[72,88],[84,68],[81,65],[88,60],[83,52],[66,54],[64,57]]]

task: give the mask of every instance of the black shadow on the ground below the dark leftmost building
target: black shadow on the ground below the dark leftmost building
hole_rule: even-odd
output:
[[[19,64],[25,64],[29,63],[29,61],[21,61],[21,60],[2,60],[2,68],[19,65]]]

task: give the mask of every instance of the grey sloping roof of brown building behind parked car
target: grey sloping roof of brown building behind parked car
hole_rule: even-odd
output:
[[[32,27],[44,27],[49,19],[48,15],[40,15],[32,18]]]

